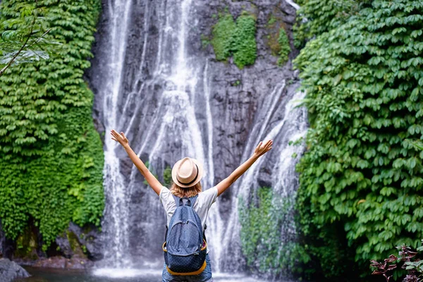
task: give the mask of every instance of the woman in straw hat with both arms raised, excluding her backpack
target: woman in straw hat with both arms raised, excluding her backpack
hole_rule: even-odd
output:
[[[172,195],[176,195],[177,197],[194,197],[195,195],[198,195],[197,200],[195,201],[195,204],[192,208],[195,210],[195,212],[197,212],[198,216],[200,216],[203,231],[207,220],[207,215],[209,214],[209,209],[216,201],[216,197],[219,197],[221,193],[225,192],[225,190],[228,189],[232,183],[235,182],[235,180],[242,176],[243,173],[245,173],[245,171],[247,171],[247,169],[250,168],[250,166],[252,166],[255,161],[257,161],[257,159],[259,159],[259,157],[261,157],[266,152],[269,152],[271,146],[273,145],[272,140],[267,141],[265,144],[260,142],[250,159],[247,159],[247,161],[236,168],[230,176],[223,179],[219,184],[214,186],[214,188],[210,188],[204,192],[202,192],[202,187],[200,184],[200,180],[203,175],[202,164],[200,164],[196,159],[185,157],[184,159],[177,161],[172,168],[173,185],[169,190],[168,188],[161,185],[159,180],[157,180],[157,178],[148,170],[147,166],[145,166],[137,154],[135,154],[133,149],[130,148],[128,138],[125,137],[123,132],[119,134],[116,132],[116,130],[111,130],[111,135],[111,139],[119,142],[123,146],[130,159],[142,173],[142,176],[145,177],[145,180],[147,180],[147,183],[151,186],[154,192],[159,195],[159,199],[166,211],[167,223],[169,223],[171,220],[173,212],[175,212],[176,209],[176,203],[175,200],[173,200]],[[164,264],[162,275],[163,282],[213,281],[212,266],[210,264],[209,255],[206,256],[206,262],[206,269],[204,269],[201,274],[190,276],[171,275],[166,269],[166,264]]]

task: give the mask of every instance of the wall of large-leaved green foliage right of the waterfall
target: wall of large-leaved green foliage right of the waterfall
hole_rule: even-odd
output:
[[[311,126],[298,209],[320,268],[333,264],[323,243],[346,240],[365,275],[369,259],[417,247],[423,233],[423,3],[374,0],[342,25],[333,20],[327,32],[310,31],[317,37],[295,61]]]

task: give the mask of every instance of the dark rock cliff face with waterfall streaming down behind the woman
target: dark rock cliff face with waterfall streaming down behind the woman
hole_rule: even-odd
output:
[[[240,70],[232,59],[216,61],[212,46],[204,46],[202,38],[212,38],[219,13],[236,18],[243,11],[257,18],[257,60]],[[276,23],[269,23],[271,18]],[[297,74],[291,61],[277,66],[270,42],[284,27],[293,59],[298,53],[292,44],[294,20],[295,4],[285,0],[104,1],[87,73],[95,94],[97,129],[106,131],[104,264],[159,264],[157,246],[166,224],[157,195],[143,183],[124,150],[110,140],[109,130],[115,128],[125,132],[160,180],[164,169],[182,157],[202,161],[207,171],[204,188],[226,178],[259,140],[275,140],[271,153],[219,197],[209,214],[214,269],[246,269],[238,198],[253,203],[263,185],[287,197],[295,194],[295,160],[290,158],[293,149],[287,148],[305,133],[306,116],[288,104],[302,97]],[[297,150],[301,154],[302,149]],[[281,231],[281,240],[292,240],[295,231],[286,232]]]

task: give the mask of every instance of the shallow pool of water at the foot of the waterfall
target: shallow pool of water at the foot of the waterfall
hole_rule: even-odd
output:
[[[131,269],[97,269],[75,271],[66,269],[37,269],[25,267],[32,275],[14,282],[161,282],[161,271]],[[259,282],[243,274],[213,274],[214,282]]]

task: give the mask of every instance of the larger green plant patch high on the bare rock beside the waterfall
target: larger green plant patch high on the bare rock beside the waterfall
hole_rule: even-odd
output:
[[[213,26],[212,45],[216,60],[226,61],[233,56],[238,68],[252,65],[257,57],[255,17],[243,13],[235,21],[231,14],[221,16]]]

